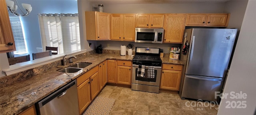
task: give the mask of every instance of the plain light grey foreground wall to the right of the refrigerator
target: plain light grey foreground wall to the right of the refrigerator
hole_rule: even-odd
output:
[[[227,99],[222,99],[218,115],[255,115],[256,113],[256,0],[249,0],[242,22],[240,35],[230,66],[224,93]],[[246,93],[246,99],[230,99],[230,92]],[[246,101],[245,109],[226,109],[228,102]],[[233,104],[234,106],[234,104]],[[244,105],[242,105],[244,106]],[[230,107],[230,106],[228,106]],[[235,106],[236,107],[236,106]]]

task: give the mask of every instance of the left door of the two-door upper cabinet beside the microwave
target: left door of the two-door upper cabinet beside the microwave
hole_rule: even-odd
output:
[[[111,14],[111,40],[123,40],[123,23],[121,14]]]

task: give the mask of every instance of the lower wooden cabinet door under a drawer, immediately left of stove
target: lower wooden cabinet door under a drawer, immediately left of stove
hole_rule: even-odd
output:
[[[117,66],[117,83],[131,85],[131,69],[128,66]]]

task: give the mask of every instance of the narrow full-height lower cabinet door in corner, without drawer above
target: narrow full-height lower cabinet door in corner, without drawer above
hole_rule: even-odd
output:
[[[116,83],[116,60],[108,59],[108,83]]]

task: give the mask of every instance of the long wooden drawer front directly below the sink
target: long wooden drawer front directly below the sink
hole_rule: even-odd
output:
[[[99,71],[99,66],[97,65],[97,66],[93,67],[92,69],[90,69],[89,71],[87,71],[86,73],[84,73],[83,75],[76,78],[77,86],[82,84],[86,79],[88,79],[90,76],[92,76],[94,73],[96,73],[98,71]]]

